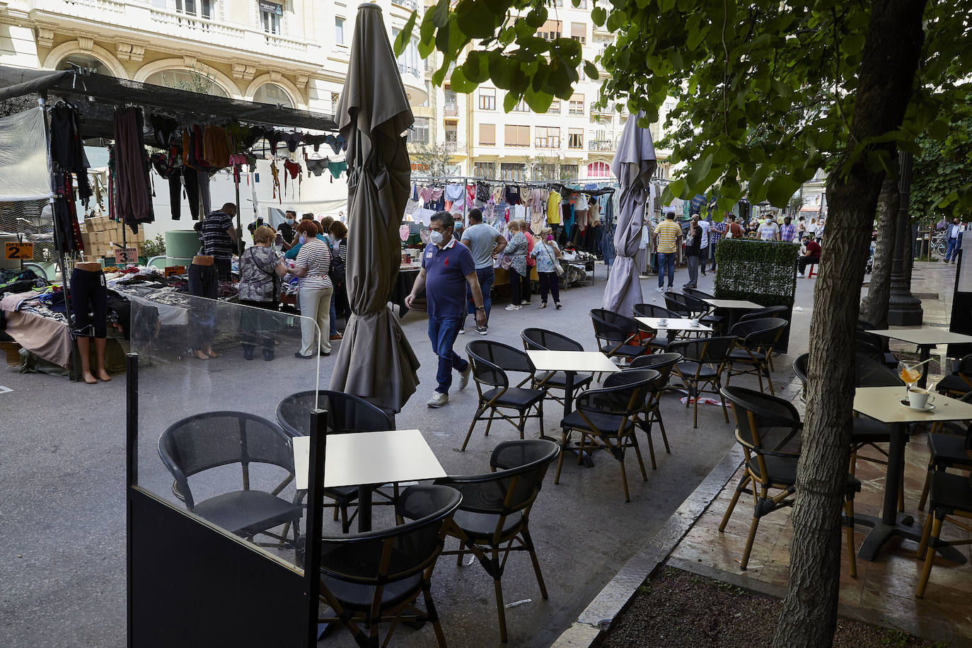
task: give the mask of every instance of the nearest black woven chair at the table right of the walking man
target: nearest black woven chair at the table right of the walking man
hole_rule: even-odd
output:
[[[612,373],[605,380],[605,386],[598,390],[588,390],[577,397],[574,411],[561,420],[561,447],[568,448],[573,430],[580,432],[580,443],[576,446],[577,463],[584,452],[607,450],[621,466],[621,486],[624,500],[631,501],[628,493],[628,475],[624,468],[625,450],[635,449],[638,466],[642,470],[642,480],[647,481],[644,471],[642,451],[638,446],[639,417],[648,397],[652,381],[660,376],[654,369],[629,369]],[[564,467],[564,455],[557,461],[557,476],[554,484],[560,483],[560,473]]]

